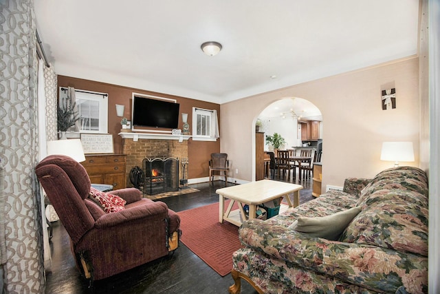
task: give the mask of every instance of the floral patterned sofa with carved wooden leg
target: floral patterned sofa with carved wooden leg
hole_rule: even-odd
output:
[[[353,207],[360,212],[336,240],[292,229]],[[259,293],[428,293],[428,179],[415,167],[347,178],[343,191],[244,222],[239,238],[230,293],[241,279]]]

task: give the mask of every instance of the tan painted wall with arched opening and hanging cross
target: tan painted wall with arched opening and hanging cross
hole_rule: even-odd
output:
[[[380,160],[383,141],[410,140],[419,166],[419,64],[412,57],[356,72],[293,85],[221,105],[221,146],[233,162],[233,174],[254,179],[254,121],[274,101],[295,96],[322,112],[322,185],[342,186],[349,176],[371,178],[393,166]],[[381,91],[395,87],[397,108],[382,110]],[[428,118],[424,118],[428,119]],[[295,130],[292,130],[295,132]]]

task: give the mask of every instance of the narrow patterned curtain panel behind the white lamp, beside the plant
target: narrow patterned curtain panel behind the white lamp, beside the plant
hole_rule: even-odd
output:
[[[44,81],[46,94],[46,136],[48,141],[57,140],[56,129],[56,73],[54,67],[44,67]]]

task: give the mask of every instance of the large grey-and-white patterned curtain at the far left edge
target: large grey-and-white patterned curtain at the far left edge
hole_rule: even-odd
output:
[[[7,293],[44,293],[32,0],[0,1],[0,156],[4,167]],[[1,230],[0,230],[1,231]]]

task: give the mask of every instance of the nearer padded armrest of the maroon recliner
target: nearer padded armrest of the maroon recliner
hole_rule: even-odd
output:
[[[142,218],[168,218],[168,207],[164,202],[146,202],[144,205],[131,207],[118,212],[106,213],[96,220],[96,229],[113,227],[124,222]],[[147,221],[147,220],[146,220]]]

